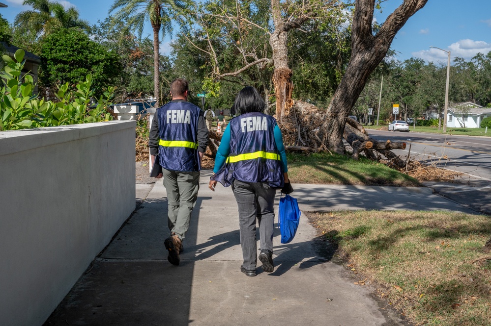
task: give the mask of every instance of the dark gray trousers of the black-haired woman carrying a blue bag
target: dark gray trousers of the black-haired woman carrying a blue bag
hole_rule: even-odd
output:
[[[266,182],[234,180],[232,191],[239,209],[240,246],[243,266],[255,270],[258,262],[256,219],[259,223],[260,248],[273,251],[274,198],[276,189]]]

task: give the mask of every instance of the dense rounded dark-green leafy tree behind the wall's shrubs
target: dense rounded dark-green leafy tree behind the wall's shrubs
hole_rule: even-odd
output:
[[[100,95],[102,86],[114,84],[121,70],[115,51],[107,51],[79,30],[61,29],[43,42],[39,79],[45,87],[75,84],[91,74],[93,87]]]

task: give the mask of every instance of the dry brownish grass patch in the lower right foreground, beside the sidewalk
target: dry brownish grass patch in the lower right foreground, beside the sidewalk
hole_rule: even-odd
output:
[[[355,284],[378,295],[415,325],[491,325],[491,254],[482,249],[491,217],[449,212],[310,213],[339,244]]]

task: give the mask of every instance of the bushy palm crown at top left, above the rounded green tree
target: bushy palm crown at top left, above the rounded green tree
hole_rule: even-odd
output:
[[[89,23],[79,19],[79,12],[74,7],[65,10],[60,3],[50,0],[24,0],[22,4],[32,6],[33,10],[20,12],[15,17],[14,25],[34,31],[38,37],[49,35],[59,28],[89,28]]]

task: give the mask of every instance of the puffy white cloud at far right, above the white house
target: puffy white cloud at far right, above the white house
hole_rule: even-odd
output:
[[[479,52],[483,54],[487,54],[488,52],[490,52],[491,44],[486,43],[484,41],[474,41],[474,40],[465,39],[453,43],[446,49],[444,48],[443,50],[450,51],[451,59],[458,56],[465,60],[470,60]],[[422,58],[429,62],[446,62],[448,59],[447,53],[435,48],[412,52],[411,54],[415,57]]]

